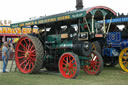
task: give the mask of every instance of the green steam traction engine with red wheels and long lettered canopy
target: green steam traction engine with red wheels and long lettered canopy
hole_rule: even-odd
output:
[[[92,50],[95,39],[102,37],[97,34],[97,21],[114,15],[110,8],[97,6],[11,24],[11,28],[39,28],[38,34],[19,39],[15,49],[18,69],[25,74],[37,73],[43,67],[59,69],[65,78],[76,78],[82,66],[88,74],[99,74],[103,60]]]

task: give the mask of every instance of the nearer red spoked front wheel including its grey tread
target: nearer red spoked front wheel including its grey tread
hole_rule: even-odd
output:
[[[59,60],[59,71],[65,78],[76,78],[80,72],[80,62],[74,53],[64,53]]]

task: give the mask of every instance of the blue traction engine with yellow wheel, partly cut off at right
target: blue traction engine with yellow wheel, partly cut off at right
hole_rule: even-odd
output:
[[[104,43],[100,44],[99,48],[96,47],[97,50],[102,48],[101,54],[105,66],[114,67],[119,62],[121,68],[128,72],[128,16],[118,15],[116,18],[99,21],[99,23],[105,23],[106,26],[111,24],[104,39],[100,40]],[[124,28],[120,30],[117,25],[124,25]]]

